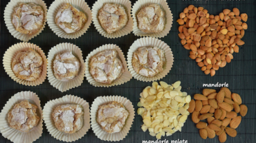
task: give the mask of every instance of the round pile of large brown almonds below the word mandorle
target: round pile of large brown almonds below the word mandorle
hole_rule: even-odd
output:
[[[248,108],[241,104],[239,94],[231,94],[228,88],[222,87],[219,93],[214,89],[203,89],[203,95],[195,94],[188,111],[192,113],[192,121],[196,123],[196,128],[203,139],[219,135],[219,142],[226,142],[226,134],[231,137],[237,136],[235,129]],[[237,115],[238,113],[240,115]],[[201,121],[205,119],[208,124]]]

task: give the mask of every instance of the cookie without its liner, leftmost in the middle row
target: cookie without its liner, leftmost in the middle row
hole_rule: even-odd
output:
[[[42,69],[42,57],[31,48],[18,52],[12,60],[12,71],[20,79],[37,80],[42,74]]]

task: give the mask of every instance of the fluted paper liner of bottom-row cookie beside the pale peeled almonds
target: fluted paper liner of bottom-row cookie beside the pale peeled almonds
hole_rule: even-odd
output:
[[[125,125],[122,127],[122,130],[118,133],[107,133],[101,128],[100,124],[98,124],[97,122],[98,107],[101,104],[111,101],[122,103],[125,109],[129,112],[127,120],[125,121]],[[127,134],[129,133],[131,125],[134,122],[134,115],[134,106],[131,103],[131,101],[127,98],[124,98],[122,96],[100,96],[93,101],[93,104],[91,104],[91,128],[100,140],[120,141],[123,140],[125,136],[127,136]]]

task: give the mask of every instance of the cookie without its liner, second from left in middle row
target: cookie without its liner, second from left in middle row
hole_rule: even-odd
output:
[[[54,76],[58,80],[71,80],[78,75],[80,66],[80,61],[72,52],[57,54],[53,61]]]

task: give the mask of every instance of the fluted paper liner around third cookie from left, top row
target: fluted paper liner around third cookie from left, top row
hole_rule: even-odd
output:
[[[117,3],[125,8],[128,21],[127,21],[127,25],[125,25],[124,28],[118,30],[117,32],[113,32],[111,34],[109,34],[106,30],[104,30],[104,28],[102,28],[102,26],[100,25],[100,21],[98,19],[98,11],[100,10],[100,8],[102,8],[104,3]],[[102,36],[107,37],[109,39],[115,39],[120,36],[125,36],[131,33],[132,27],[134,25],[134,21],[132,21],[132,18],[131,18],[131,1],[129,0],[98,0],[93,4],[92,12],[93,12],[93,24],[96,30],[98,30],[98,32],[102,34]]]

